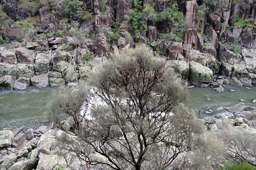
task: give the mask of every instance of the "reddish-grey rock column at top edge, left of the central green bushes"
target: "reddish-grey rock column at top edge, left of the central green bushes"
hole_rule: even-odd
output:
[[[117,0],[117,19],[120,21],[124,20],[124,15],[132,9],[131,0]]]

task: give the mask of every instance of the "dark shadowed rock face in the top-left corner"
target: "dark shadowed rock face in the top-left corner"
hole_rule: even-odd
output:
[[[3,11],[14,21],[17,21],[16,2],[14,0],[4,0],[2,2]]]

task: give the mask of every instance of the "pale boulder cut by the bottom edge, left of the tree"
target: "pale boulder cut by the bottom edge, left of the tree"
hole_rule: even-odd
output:
[[[36,170],[54,169],[54,167],[67,167],[66,160],[63,156],[39,154],[39,161]]]

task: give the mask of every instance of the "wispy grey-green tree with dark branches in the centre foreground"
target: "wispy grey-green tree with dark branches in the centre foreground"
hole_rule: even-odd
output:
[[[202,128],[182,104],[186,86],[146,48],[113,56],[89,85],[91,95],[79,86],[61,90],[51,103],[51,117],[75,136],[63,144],[83,162],[113,169],[168,169],[181,153],[198,148]],[[63,112],[72,117],[72,132],[58,119]]]

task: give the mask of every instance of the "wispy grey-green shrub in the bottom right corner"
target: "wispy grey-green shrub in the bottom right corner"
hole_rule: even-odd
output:
[[[234,163],[248,162],[256,167],[256,134],[240,128],[227,128],[219,137],[226,156]]]

